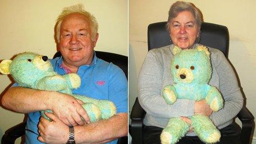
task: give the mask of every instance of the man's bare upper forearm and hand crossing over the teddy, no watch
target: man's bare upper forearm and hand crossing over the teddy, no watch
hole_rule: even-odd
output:
[[[58,92],[12,87],[3,95],[2,104],[18,113],[52,110],[67,125],[83,125],[81,116],[89,121],[86,111],[76,99]]]

